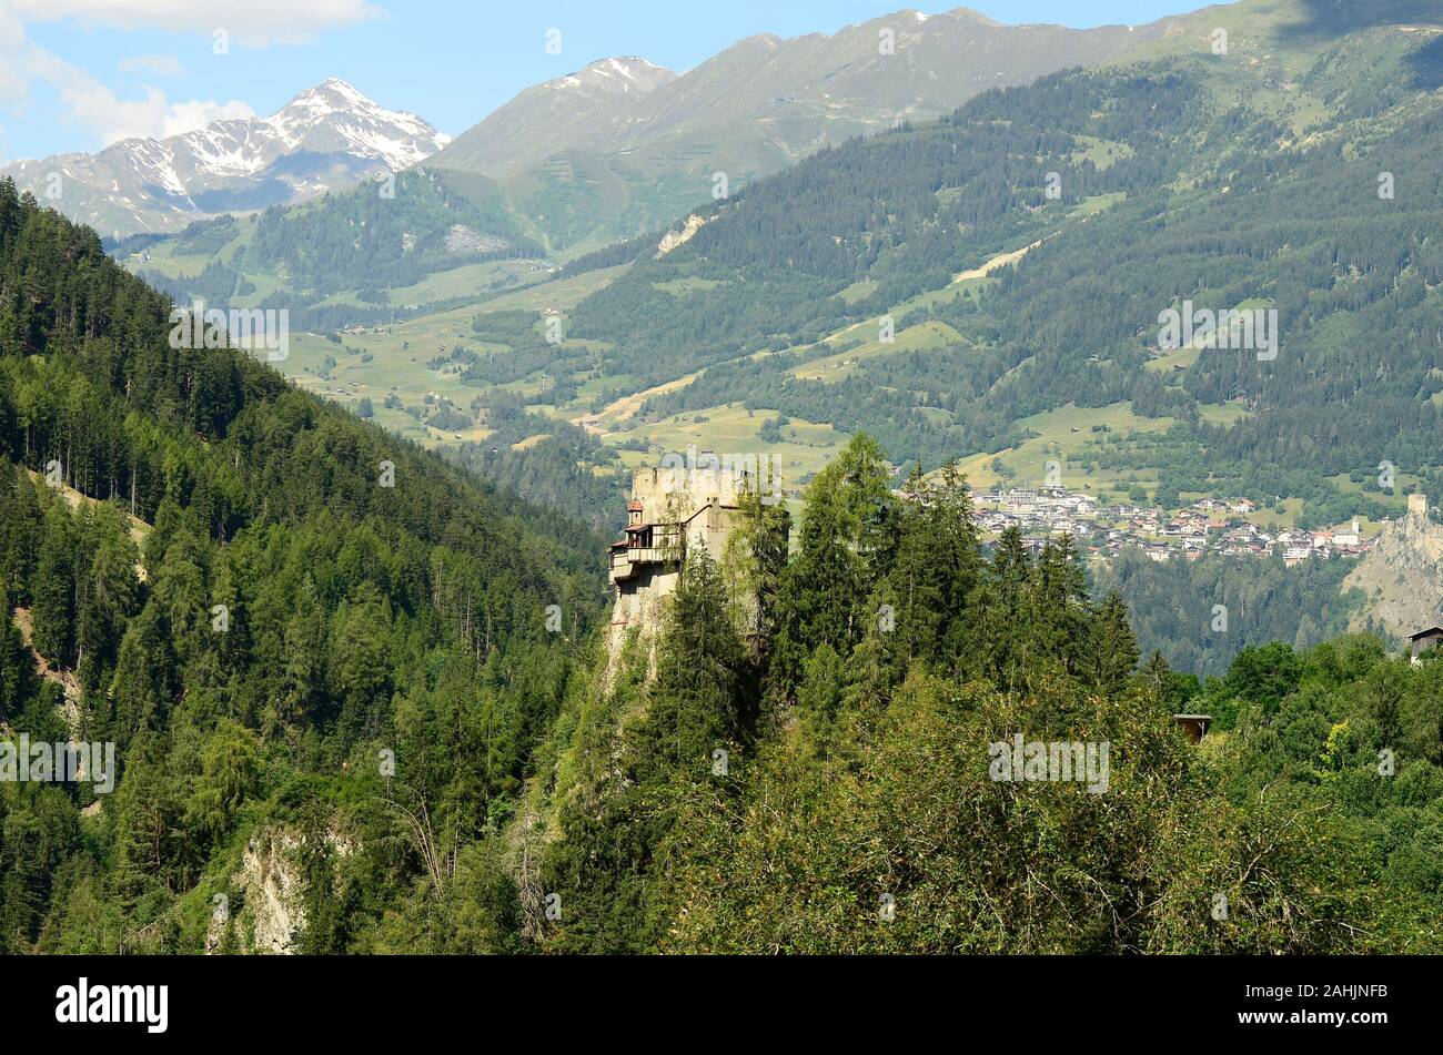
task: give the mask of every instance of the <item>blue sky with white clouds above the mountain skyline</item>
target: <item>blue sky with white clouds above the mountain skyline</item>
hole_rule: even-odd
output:
[[[834,32],[887,0],[0,0],[0,161],[268,114],[328,76],[457,134],[609,55],[685,71],[753,33]],[[999,22],[1136,25],[1201,0],[974,0]],[[545,33],[561,30],[561,55]],[[225,29],[228,53],[216,55]]]

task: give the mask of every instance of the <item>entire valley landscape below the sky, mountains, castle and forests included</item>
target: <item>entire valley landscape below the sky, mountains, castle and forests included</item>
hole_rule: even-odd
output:
[[[1240,0],[9,166],[0,950],[1443,951],[1440,157]]]

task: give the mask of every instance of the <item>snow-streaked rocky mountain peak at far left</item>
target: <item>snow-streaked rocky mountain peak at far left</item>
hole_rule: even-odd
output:
[[[270,117],[216,121],[165,140],[121,140],[97,154],[56,154],[0,169],[66,216],[121,238],[179,231],[400,172],[450,141],[416,117],[328,79]],[[52,173],[61,197],[46,192]]]

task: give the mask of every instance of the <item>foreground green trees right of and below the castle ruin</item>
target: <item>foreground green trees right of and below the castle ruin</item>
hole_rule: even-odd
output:
[[[1199,690],[1139,664],[1066,538],[984,556],[955,474],[885,478],[854,441],[789,559],[753,510],[740,556],[690,561],[655,676],[636,651],[563,713],[544,948],[1437,951],[1443,662],[1343,637]],[[1107,790],[999,780],[1019,734],[1105,742]]]

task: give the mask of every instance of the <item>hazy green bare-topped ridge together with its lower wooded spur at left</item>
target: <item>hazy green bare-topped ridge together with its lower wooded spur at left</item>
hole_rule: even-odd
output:
[[[372,215],[374,202],[361,199],[374,195],[336,193],[268,210],[266,231],[139,239],[123,255],[177,297],[247,306],[238,290],[263,291],[260,300],[281,288],[307,326],[375,323],[397,307],[453,306],[466,290],[534,282],[553,262],[619,238],[646,236],[655,246],[674,221],[711,199],[717,173],[736,193],[827,146],[935,118],[988,88],[1124,58],[1175,29],[1176,20],[1003,26],[968,10],[905,10],[834,35],[747,37],[680,76],[642,58],[606,58],[522,91],[426,159],[424,173],[411,173],[397,195],[418,189],[424,200],[414,208]],[[440,186],[444,200],[431,193]],[[352,226],[365,233],[352,239]],[[323,246],[317,228],[328,232]],[[463,232],[459,242],[455,231]],[[203,272],[222,252],[238,274],[202,281],[215,278]],[[387,254],[397,259],[378,265]],[[468,270],[501,258],[531,262]],[[443,271],[455,280],[421,281]]]

